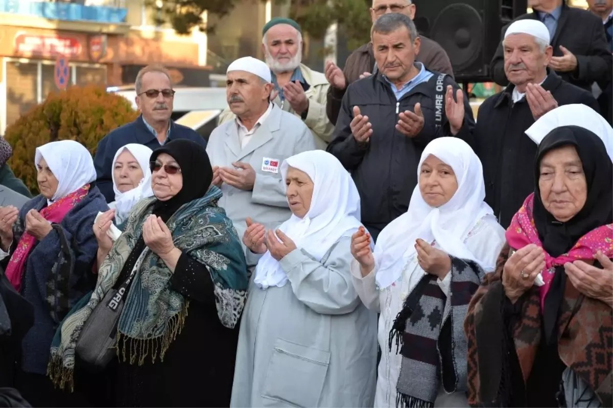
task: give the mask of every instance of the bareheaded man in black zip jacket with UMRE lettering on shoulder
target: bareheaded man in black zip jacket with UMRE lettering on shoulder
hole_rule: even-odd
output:
[[[424,147],[451,134],[470,142],[474,119],[468,98],[452,78],[415,62],[420,40],[409,17],[379,17],[371,39],[378,72],[347,88],[327,151],[352,172],[362,223],[376,239],[408,209]],[[465,116],[456,121],[460,127],[450,124],[445,114],[452,89],[465,108]]]

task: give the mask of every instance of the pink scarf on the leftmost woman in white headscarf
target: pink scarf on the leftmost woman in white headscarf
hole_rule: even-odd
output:
[[[86,184],[77,191],[74,191],[74,193],[70,193],[40,210],[40,215],[51,223],[59,223],[64,219],[66,213],[72,210],[87,195],[88,191],[89,184]],[[28,259],[28,254],[34,248],[35,243],[36,238],[34,236],[29,234],[29,232],[23,232],[15,252],[10,257],[9,265],[6,268],[6,277],[17,291],[21,289],[21,277],[23,276],[26,259]]]

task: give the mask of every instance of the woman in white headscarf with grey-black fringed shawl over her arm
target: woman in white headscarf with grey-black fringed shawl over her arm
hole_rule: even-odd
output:
[[[430,142],[417,174],[408,211],[383,229],[374,254],[363,229],[351,241],[354,285],[381,313],[375,408],[468,407],[463,321],[504,229],[483,201],[481,161],[462,140]]]

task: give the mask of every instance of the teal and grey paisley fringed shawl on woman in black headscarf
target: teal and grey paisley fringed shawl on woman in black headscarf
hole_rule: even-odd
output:
[[[221,190],[211,187],[204,198],[182,206],[170,217],[167,226],[173,242],[183,253],[207,265],[215,284],[219,321],[234,328],[245,305],[248,285],[245,256],[237,232],[226,212],[217,206]],[[59,344],[51,347],[48,375],[60,387],[72,387],[74,352],[83,324],[105,294],[112,289],[156,200],[143,199],[132,210],[126,229],[113,245],[99,270],[99,277],[89,302],[68,316],[59,332]],[[142,263],[126,297],[118,324],[118,355],[129,354],[143,364],[150,355],[155,361],[164,358],[170,343],[180,333],[189,300],[169,287],[172,272],[151,250],[145,248]],[[58,335],[56,335],[58,336]],[[121,347],[123,344],[123,347]],[[126,347],[127,346],[127,347]]]

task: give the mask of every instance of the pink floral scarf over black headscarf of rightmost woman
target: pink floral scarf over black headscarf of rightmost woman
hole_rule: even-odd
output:
[[[513,216],[511,225],[506,230],[506,241],[514,250],[524,248],[530,243],[543,248],[532,217],[533,202],[534,193],[524,201],[524,205]],[[613,258],[613,224],[603,225],[588,232],[577,240],[573,248],[557,258],[553,258],[545,252],[545,269],[541,272],[545,284],[539,287],[541,310],[544,308],[545,295],[547,295],[554,280],[555,267],[562,266],[566,262],[577,261],[577,259],[584,261],[595,259],[598,251],[601,251],[607,258]]]

